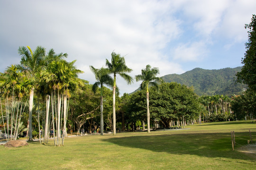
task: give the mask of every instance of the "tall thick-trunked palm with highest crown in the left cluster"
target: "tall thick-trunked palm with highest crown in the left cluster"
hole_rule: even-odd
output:
[[[36,73],[42,69],[43,66],[43,60],[46,54],[46,49],[37,46],[36,50],[32,52],[29,46],[26,47],[19,47],[18,53],[21,55],[21,61],[20,64],[17,65],[17,67],[26,73],[27,77],[33,82],[33,84],[30,87],[29,92],[29,129],[28,129],[28,135],[29,141],[32,141],[32,109],[33,109],[33,98],[34,98],[34,91],[35,86],[37,84],[37,79],[35,78]]]

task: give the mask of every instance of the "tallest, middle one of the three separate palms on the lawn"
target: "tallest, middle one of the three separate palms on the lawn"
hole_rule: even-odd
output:
[[[106,66],[109,68],[110,73],[114,74],[114,84],[113,84],[113,135],[116,134],[116,76],[119,75],[124,78],[128,84],[133,82],[133,78],[126,73],[132,71],[131,68],[128,68],[125,64],[124,57],[121,57],[120,54],[111,53],[111,62],[106,59]]]

